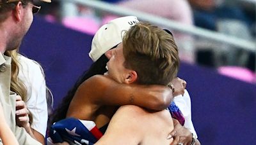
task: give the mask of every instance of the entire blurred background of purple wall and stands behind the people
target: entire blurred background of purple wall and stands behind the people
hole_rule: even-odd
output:
[[[256,144],[255,0],[53,0],[20,51],[45,70],[54,107],[88,69],[92,37],[116,17],[173,32],[202,144]],[[254,111],[253,111],[254,110]]]

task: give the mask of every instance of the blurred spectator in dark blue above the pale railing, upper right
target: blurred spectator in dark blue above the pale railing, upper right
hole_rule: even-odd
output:
[[[217,31],[217,23],[223,19],[234,19],[252,24],[250,19],[238,5],[230,6],[216,0],[189,0],[193,7],[195,25]]]

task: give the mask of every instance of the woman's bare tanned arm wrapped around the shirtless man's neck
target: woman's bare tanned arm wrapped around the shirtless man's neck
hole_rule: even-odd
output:
[[[167,86],[120,84],[102,75],[95,75],[84,81],[77,89],[75,97],[92,104],[131,104],[156,111],[168,107],[173,98],[172,90]]]

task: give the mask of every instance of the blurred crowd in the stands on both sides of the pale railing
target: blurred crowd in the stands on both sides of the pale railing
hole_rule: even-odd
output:
[[[102,1],[248,41],[256,38],[255,0]],[[40,14],[50,22],[58,22],[92,35],[100,25],[118,17],[81,4],[52,1],[51,4],[41,5]],[[255,71],[255,52],[182,32],[173,31],[173,34],[179,46],[181,60],[216,68],[239,66]]]

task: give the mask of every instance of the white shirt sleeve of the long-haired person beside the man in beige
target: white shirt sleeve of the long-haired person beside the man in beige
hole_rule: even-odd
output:
[[[26,106],[33,115],[31,128],[44,135],[47,128],[48,112],[46,101],[46,86],[44,75],[39,64],[31,59],[19,56],[20,72],[19,78],[24,82],[28,95]]]

